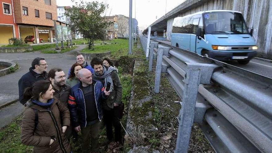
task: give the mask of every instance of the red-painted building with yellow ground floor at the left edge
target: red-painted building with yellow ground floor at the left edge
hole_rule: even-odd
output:
[[[18,25],[15,23],[12,0],[0,1],[0,45],[8,44],[8,39],[19,38]]]

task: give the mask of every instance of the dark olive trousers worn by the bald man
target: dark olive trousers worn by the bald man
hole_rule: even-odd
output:
[[[89,153],[90,146],[90,138],[91,138],[91,151],[98,152],[99,151],[99,129],[100,129],[100,121],[96,122],[92,125],[86,125],[86,127],[80,126],[81,129],[81,146],[82,153]]]

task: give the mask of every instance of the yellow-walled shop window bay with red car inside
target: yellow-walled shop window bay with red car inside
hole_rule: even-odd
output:
[[[27,44],[36,44],[35,27],[19,26],[20,38]]]

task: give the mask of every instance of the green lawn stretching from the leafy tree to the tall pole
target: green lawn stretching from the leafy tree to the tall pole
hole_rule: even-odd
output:
[[[111,56],[113,58],[118,58],[128,54],[129,40],[114,39],[107,42],[109,42],[110,44],[95,45],[93,50],[86,48],[86,49],[83,49],[81,52],[82,53],[104,53],[107,51],[111,51]],[[111,44],[111,43],[117,43],[117,44]]]

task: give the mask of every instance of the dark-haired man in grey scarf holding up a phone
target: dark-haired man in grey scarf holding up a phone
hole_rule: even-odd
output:
[[[91,61],[91,66],[95,70],[95,73],[93,74],[93,79],[101,81],[106,88],[106,91],[110,91],[108,99],[101,101],[108,138],[108,141],[105,142],[104,145],[113,141],[113,127],[115,131],[114,141],[122,144],[121,124],[119,122],[122,118],[122,107],[124,106],[121,101],[121,81],[119,79],[116,69],[112,66],[109,66],[108,68],[103,66],[101,59],[93,58]]]

